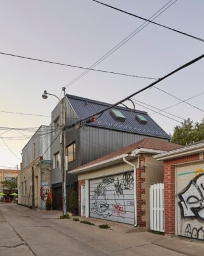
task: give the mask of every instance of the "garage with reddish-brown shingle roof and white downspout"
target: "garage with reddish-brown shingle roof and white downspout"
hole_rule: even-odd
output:
[[[180,145],[145,138],[71,173],[78,174],[80,214],[149,229],[149,186],[163,182],[163,163],[152,158]]]

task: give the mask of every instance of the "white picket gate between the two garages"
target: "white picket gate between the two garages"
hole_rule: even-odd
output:
[[[150,186],[150,230],[164,232],[164,184]]]

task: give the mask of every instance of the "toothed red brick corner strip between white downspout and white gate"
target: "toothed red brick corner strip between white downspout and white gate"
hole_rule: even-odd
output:
[[[142,173],[145,173],[143,164],[145,163],[145,157],[139,157],[139,168],[136,169],[136,198],[137,198],[137,224],[138,227],[146,227],[145,209],[142,205],[146,204],[146,200],[142,199],[142,195],[145,194],[145,188],[142,188],[142,184],[145,182],[145,177]],[[142,218],[143,217],[143,218]]]

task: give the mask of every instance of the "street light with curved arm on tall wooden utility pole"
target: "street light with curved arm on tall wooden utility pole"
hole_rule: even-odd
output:
[[[66,168],[65,168],[65,147],[66,147],[66,138],[65,138],[65,129],[66,129],[66,124],[65,124],[65,87],[62,87],[62,91],[64,92],[64,98],[62,100],[59,99],[56,95],[52,93],[48,93],[46,90],[44,91],[42,97],[43,99],[47,99],[48,95],[52,95],[56,97],[59,102],[61,103],[61,113],[62,113],[62,143],[61,143],[61,169],[62,169],[62,211],[63,215],[66,215]]]

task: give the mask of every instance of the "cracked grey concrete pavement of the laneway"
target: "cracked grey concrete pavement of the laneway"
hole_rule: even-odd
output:
[[[91,221],[101,224],[96,219]],[[108,224],[112,229],[100,229],[72,219],[59,220],[59,212],[1,204],[0,256],[193,256],[204,252],[203,242],[173,239],[150,232],[126,233],[127,227],[131,226]]]

